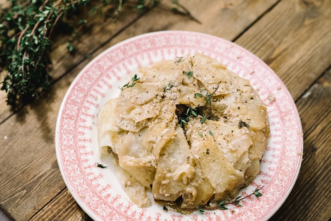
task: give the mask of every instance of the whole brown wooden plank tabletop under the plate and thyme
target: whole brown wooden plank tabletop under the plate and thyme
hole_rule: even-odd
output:
[[[2,1],[3,2],[3,1]],[[303,162],[285,203],[270,220],[331,218],[331,0],[181,0],[201,24],[163,7],[139,14],[124,6],[117,22],[95,17],[68,53],[55,34],[52,88],[18,110],[0,92],[0,206],[13,219],[90,220],[71,197],[55,154],[61,102],[80,70],[129,37],[159,30],[190,30],[233,41],[281,78],[298,108]],[[91,56],[88,56],[91,55]],[[6,75],[0,73],[0,80]]]

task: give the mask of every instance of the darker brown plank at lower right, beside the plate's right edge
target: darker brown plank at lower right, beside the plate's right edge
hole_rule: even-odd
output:
[[[321,220],[331,217],[331,70],[302,96],[297,107],[304,132],[304,155],[296,184],[270,219]]]

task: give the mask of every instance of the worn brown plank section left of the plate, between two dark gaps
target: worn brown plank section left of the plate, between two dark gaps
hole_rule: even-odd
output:
[[[28,220],[66,187],[55,154],[55,123],[74,76],[0,126],[0,205],[17,221]]]

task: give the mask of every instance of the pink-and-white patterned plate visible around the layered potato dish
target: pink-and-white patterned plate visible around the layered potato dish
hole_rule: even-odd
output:
[[[241,201],[242,207],[181,215],[163,206],[139,208],[121,189],[111,160],[98,152],[96,116],[100,108],[119,94],[140,66],[200,52],[225,64],[248,79],[267,105],[270,139],[260,173],[241,190],[247,196],[261,188],[261,196]],[[246,49],[208,34],[160,31],[139,35],[107,49],[77,75],[59,111],[55,146],[63,179],[79,206],[93,219],[136,221],[268,220],[288,197],[302,161],[303,134],[295,103],[279,77]],[[97,167],[97,163],[108,166]],[[152,199],[151,194],[149,193]],[[152,200],[153,201],[153,200]]]

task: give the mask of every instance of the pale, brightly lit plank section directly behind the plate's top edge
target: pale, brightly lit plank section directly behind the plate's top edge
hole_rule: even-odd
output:
[[[278,1],[190,0],[179,2],[201,24],[191,21],[189,18],[174,17],[171,15],[172,12],[160,14],[162,7],[157,7],[144,17],[145,21],[153,21],[153,25],[147,26],[146,29],[142,29],[140,22],[134,25],[139,25],[140,33],[159,30],[190,30],[233,40]],[[156,16],[157,20],[154,19]]]

